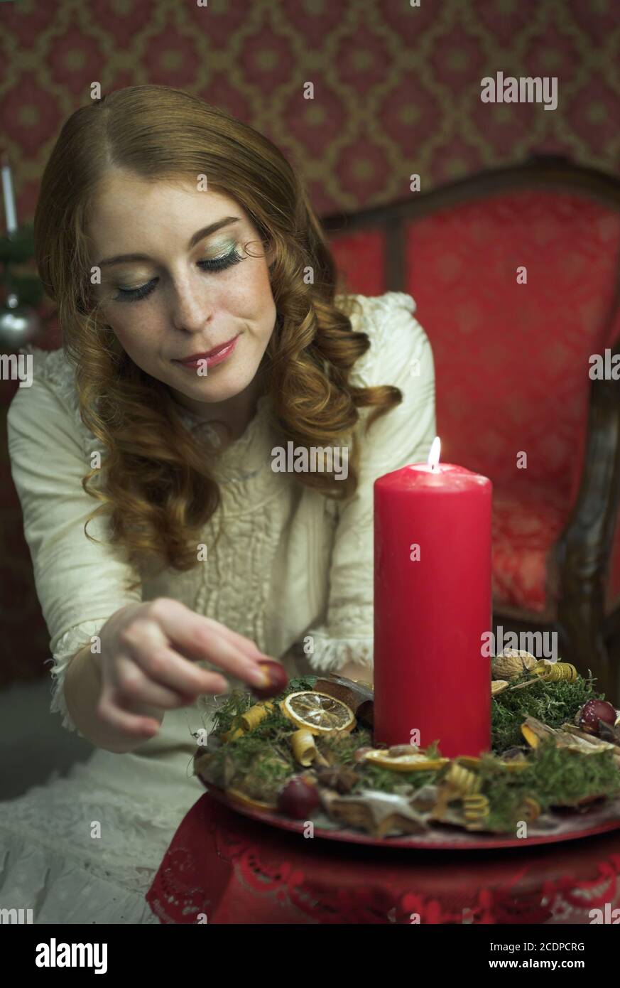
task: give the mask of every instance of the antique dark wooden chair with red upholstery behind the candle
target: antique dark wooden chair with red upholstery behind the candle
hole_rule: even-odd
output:
[[[494,625],[620,700],[620,380],[588,362],[620,354],[620,181],[535,157],[325,225],[350,290],[416,299],[442,459],[494,483]]]

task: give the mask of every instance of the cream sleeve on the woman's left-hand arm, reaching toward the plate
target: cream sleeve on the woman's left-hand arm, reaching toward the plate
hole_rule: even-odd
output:
[[[51,356],[51,355],[50,355]],[[50,635],[52,701],[63,726],[74,730],[64,701],[63,681],[69,659],[90,643],[108,617],[126,604],[141,601],[141,589],[127,589],[137,578],[112,546],[84,533],[97,501],[82,488],[94,437],[82,433],[55,393],[36,353],[31,387],[20,388],[7,417],[11,472],[24,517],[39,604]],[[40,371],[38,373],[38,370]],[[84,428],[84,427],[82,427]],[[91,444],[92,443],[92,447]],[[88,532],[105,541],[106,519],[89,522]]]

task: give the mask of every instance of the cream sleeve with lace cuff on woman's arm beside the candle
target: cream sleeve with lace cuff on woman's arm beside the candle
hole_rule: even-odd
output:
[[[414,299],[392,291],[364,299],[364,308],[360,328],[371,346],[351,380],[394,384],[403,400],[361,433],[357,490],[338,511],[327,616],[306,632],[308,663],[321,671],[337,672],[349,662],[372,668],[373,484],[384,473],[426,460],[435,434],[432,351],[413,315]]]

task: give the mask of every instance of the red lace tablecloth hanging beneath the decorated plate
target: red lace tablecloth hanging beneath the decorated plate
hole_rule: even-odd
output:
[[[277,830],[205,792],[146,899],[162,923],[589,924],[590,909],[620,906],[620,832],[529,851],[398,851]]]

